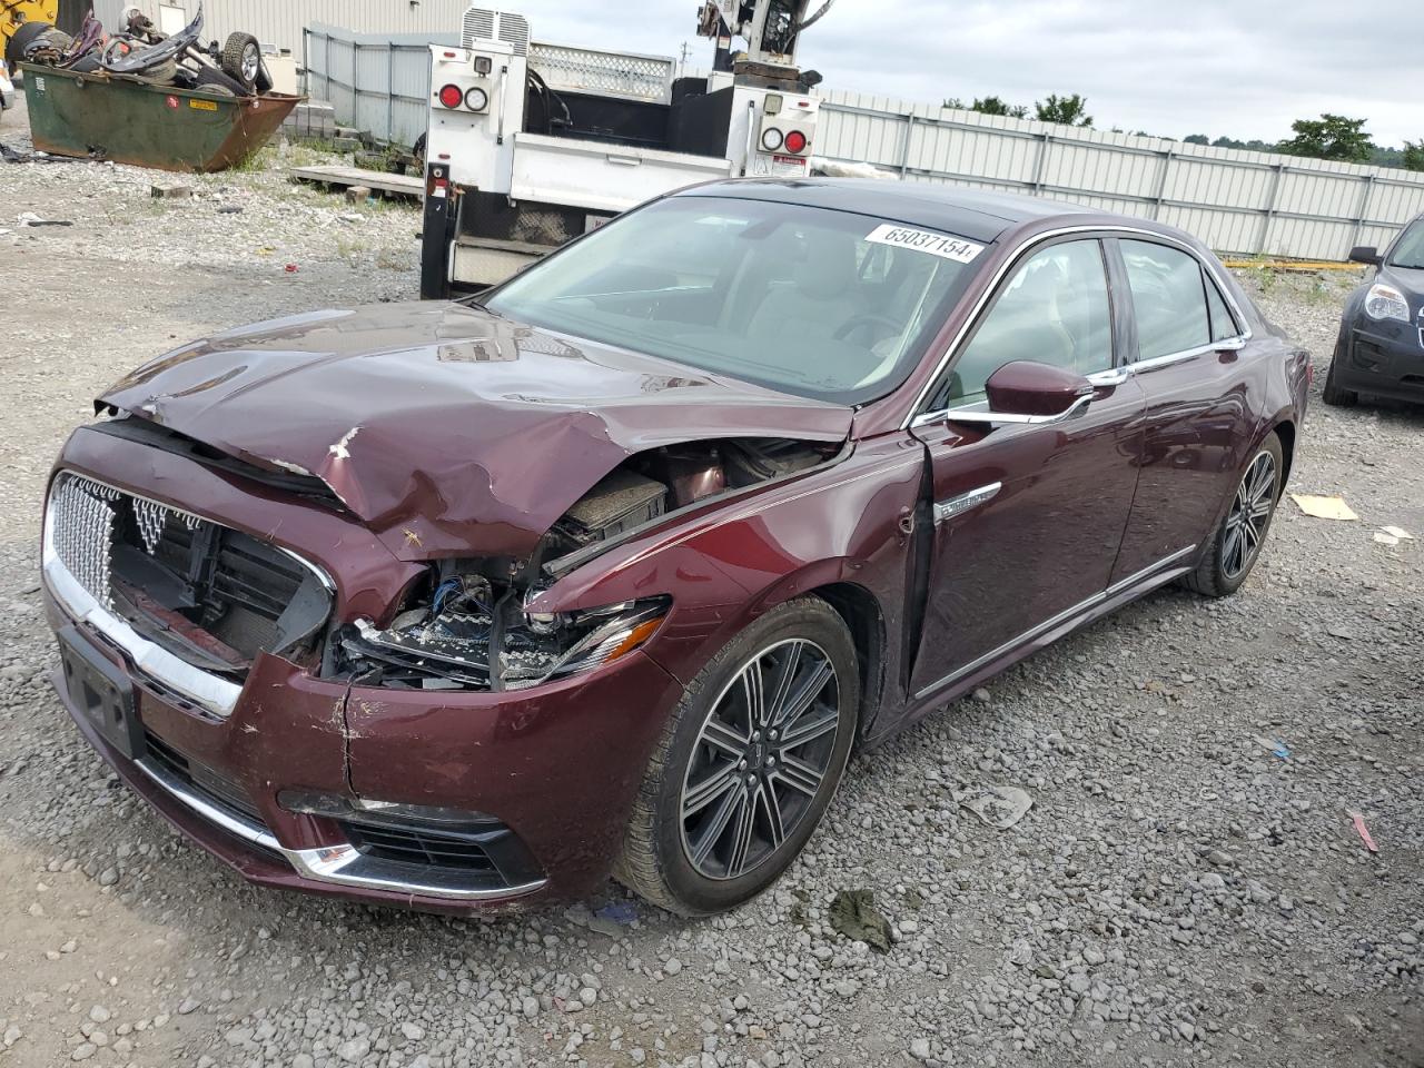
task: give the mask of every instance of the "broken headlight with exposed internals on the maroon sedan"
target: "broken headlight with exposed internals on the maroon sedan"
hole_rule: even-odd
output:
[[[671,604],[655,597],[530,615],[513,594],[494,601],[483,578],[447,578],[427,605],[389,628],[357,619],[342,635],[342,651],[357,685],[528,689],[622,659],[652,638]]]

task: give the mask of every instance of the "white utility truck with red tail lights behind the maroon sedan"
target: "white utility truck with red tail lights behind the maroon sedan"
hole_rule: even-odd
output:
[[[431,46],[422,296],[497,285],[686,185],[806,177],[819,75],[786,53],[732,56],[715,3],[702,20],[718,38],[708,75],[678,77],[659,56],[541,44],[523,16],[481,7],[466,13],[460,47]]]

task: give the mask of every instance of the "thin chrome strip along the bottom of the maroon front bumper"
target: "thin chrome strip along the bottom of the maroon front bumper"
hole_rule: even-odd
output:
[[[534,883],[500,887],[498,890],[471,890],[459,886],[453,877],[449,881],[427,883],[402,879],[400,873],[394,870],[394,864],[367,857],[347,842],[319,849],[286,849],[266,827],[256,826],[224,812],[188,789],[185,783],[168,775],[164,769],[155,768],[147,760],[138,760],[137,766],[155,786],[184,807],[242,842],[261,846],[272,853],[279,853],[286,857],[299,876],[318,883],[346,886],[356,890],[384,890],[389,893],[419,894],[420,897],[440,897],[451,901],[481,901],[521,897],[540,890],[548,881],[547,879],[540,879]]]

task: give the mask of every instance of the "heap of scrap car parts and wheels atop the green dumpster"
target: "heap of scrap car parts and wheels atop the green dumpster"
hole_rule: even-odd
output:
[[[131,74],[150,85],[201,88],[216,95],[251,97],[272,90],[256,37],[234,33],[222,46],[204,46],[198,41],[201,33],[201,4],[194,20],[171,36],[158,33],[142,11],[130,7],[124,28],[112,34],[93,13],[73,38],[47,23],[26,23],[7,43],[6,58],[78,74]]]

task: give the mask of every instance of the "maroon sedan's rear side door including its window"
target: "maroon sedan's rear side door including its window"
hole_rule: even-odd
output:
[[[1250,447],[1245,319],[1192,252],[1149,236],[1108,242],[1134,310],[1146,397],[1136,501],[1112,581],[1186,562],[1213,528]]]

